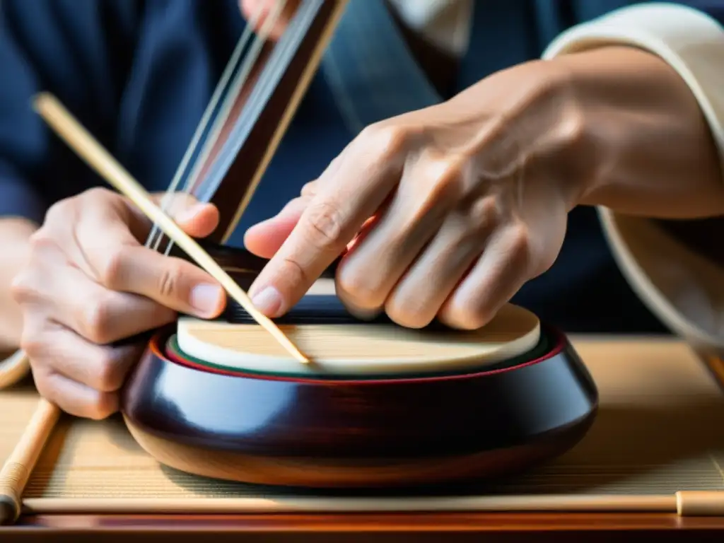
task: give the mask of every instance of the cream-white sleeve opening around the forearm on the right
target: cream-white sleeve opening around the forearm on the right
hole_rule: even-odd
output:
[[[699,102],[724,165],[724,28],[691,7],[641,4],[571,28],[543,58],[609,45],[647,50],[681,75]],[[724,357],[724,268],[657,222],[605,208],[599,217],[618,266],[649,309],[692,346]]]

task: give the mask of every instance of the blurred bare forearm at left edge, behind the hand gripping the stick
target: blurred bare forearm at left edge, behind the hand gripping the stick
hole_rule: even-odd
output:
[[[10,287],[25,262],[28,240],[36,228],[33,222],[25,219],[0,218],[0,358],[20,344],[22,316],[12,299]]]

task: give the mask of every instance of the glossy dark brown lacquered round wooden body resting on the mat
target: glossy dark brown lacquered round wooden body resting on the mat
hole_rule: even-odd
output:
[[[223,479],[305,487],[435,484],[497,476],[558,455],[593,421],[597,390],[568,341],[475,374],[369,381],[203,371],[156,334],[122,411],[161,463]]]

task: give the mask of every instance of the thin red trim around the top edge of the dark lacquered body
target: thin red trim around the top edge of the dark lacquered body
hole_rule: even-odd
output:
[[[550,358],[553,358],[554,356],[560,354],[563,349],[565,348],[565,336],[561,332],[553,332],[552,334],[555,336],[555,346],[548,351],[545,355],[535,358],[534,360],[524,362],[521,364],[518,364],[517,366],[509,366],[507,368],[499,368],[499,369],[492,369],[488,371],[478,371],[474,374],[453,374],[453,375],[445,375],[445,376],[428,376],[428,377],[410,377],[410,378],[396,378],[396,379],[312,379],[308,377],[301,377],[301,376],[274,376],[274,375],[258,375],[258,374],[248,374],[244,371],[235,371],[232,369],[220,369],[220,368],[212,368],[209,366],[203,366],[201,364],[195,363],[193,361],[187,360],[185,358],[178,358],[176,356],[172,356],[169,353],[163,353],[159,343],[162,338],[165,338],[165,334],[157,334],[153,337],[151,342],[149,343],[149,348],[151,348],[151,352],[153,355],[155,355],[157,358],[166,361],[168,363],[174,363],[178,366],[184,366],[189,369],[193,369],[196,371],[205,371],[206,373],[211,374],[218,374],[218,375],[224,375],[229,377],[243,377],[245,379],[260,379],[264,381],[285,381],[285,382],[295,382],[295,383],[306,383],[306,384],[324,384],[327,386],[330,385],[345,385],[348,386],[350,384],[353,384],[355,386],[360,386],[364,384],[374,384],[374,385],[380,385],[380,384],[403,384],[403,383],[416,383],[416,382],[435,382],[435,381],[453,381],[455,379],[476,379],[479,377],[487,377],[492,376],[495,374],[502,374],[506,371],[511,371],[513,369],[521,369],[525,368],[527,366],[533,366],[534,364],[541,363],[543,361],[547,361]]]

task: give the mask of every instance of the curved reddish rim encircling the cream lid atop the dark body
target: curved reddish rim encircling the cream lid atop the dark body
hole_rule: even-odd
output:
[[[416,375],[416,376],[394,376],[394,377],[372,377],[368,379],[358,379],[354,376],[347,376],[339,375],[334,376],[334,379],[329,379],[327,377],[321,376],[321,377],[313,377],[313,376],[306,376],[306,375],[284,375],[284,374],[258,374],[248,371],[242,371],[242,370],[234,370],[229,368],[221,368],[221,367],[215,367],[215,366],[209,366],[209,365],[202,365],[201,363],[195,363],[188,358],[185,358],[183,360],[179,360],[175,357],[172,357],[167,354],[166,349],[161,347],[162,345],[166,345],[166,340],[170,335],[169,328],[161,329],[159,332],[156,332],[156,334],[153,334],[153,337],[151,337],[151,340],[148,342],[148,348],[151,350],[153,355],[155,355],[158,358],[161,358],[168,363],[175,364],[177,366],[184,366],[188,369],[192,369],[195,371],[204,371],[206,373],[210,374],[217,374],[217,375],[223,375],[227,377],[235,377],[240,379],[257,379],[257,380],[264,380],[264,381],[278,381],[278,382],[293,382],[298,384],[316,384],[316,385],[325,385],[325,386],[360,386],[360,385],[369,385],[369,386],[376,386],[376,385],[385,385],[385,384],[414,384],[414,383],[430,383],[430,382],[442,382],[442,381],[452,381],[452,380],[463,380],[463,379],[479,379],[481,377],[486,376],[492,376],[495,374],[502,374],[507,371],[513,371],[515,369],[521,369],[526,366],[534,366],[537,363],[541,363],[543,361],[546,361],[561,352],[565,349],[565,334],[563,334],[560,329],[557,329],[557,327],[550,326],[548,324],[541,323],[540,324],[541,329],[541,341],[545,340],[545,337],[550,337],[550,346],[544,351],[544,354],[537,356],[536,358],[532,358],[531,360],[524,361],[517,364],[512,364],[510,366],[503,366],[503,367],[495,367],[493,369],[484,369],[481,371],[460,371],[458,373],[452,373],[452,374],[436,374],[436,375]],[[532,348],[528,352],[534,352],[538,345],[536,345],[535,348]],[[525,354],[521,355],[525,356]],[[518,358],[517,356],[514,358]]]

